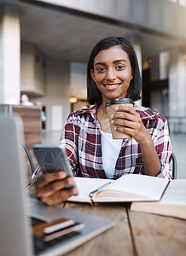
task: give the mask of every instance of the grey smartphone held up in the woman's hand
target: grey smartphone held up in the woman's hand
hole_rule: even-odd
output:
[[[64,170],[67,172],[67,177],[73,176],[65,148],[52,144],[35,144],[32,149],[42,172],[48,172],[52,175],[57,171]],[[75,187],[75,183],[66,189],[73,187]]]

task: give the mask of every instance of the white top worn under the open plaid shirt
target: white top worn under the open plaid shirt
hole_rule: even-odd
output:
[[[108,178],[112,178],[116,160],[118,159],[123,139],[114,139],[111,133],[102,131],[102,160],[103,169]]]

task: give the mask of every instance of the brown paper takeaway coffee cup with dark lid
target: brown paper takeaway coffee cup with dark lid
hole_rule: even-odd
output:
[[[115,108],[117,106],[124,105],[124,104],[125,104],[125,106],[130,106],[131,108],[133,108],[134,102],[131,100],[131,98],[119,98],[119,99],[110,100],[110,101],[106,102],[106,104],[105,104],[105,107],[107,108],[107,111],[108,111],[108,119],[110,121],[110,128],[111,128],[113,139],[130,138],[131,137],[131,135],[129,135],[129,134],[115,131],[114,130],[115,125],[113,125],[111,123],[111,121],[112,121],[112,119],[110,118],[111,114],[117,113]]]

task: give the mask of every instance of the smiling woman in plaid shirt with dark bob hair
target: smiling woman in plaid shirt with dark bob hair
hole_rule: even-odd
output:
[[[125,38],[105,38],[90,54],[87,68],[88,102],[93,107],[70,113],[61,136],[61,146],[74,175],[118,178],[139,173],[171,178],[172,157],[167,121],[158,112],[137,106],[120,106],[112,116],[115,130],[131,138],[113,140],[105,103],[130,97],[140,99],[141,78],[137,55]],[[77,188],[61,190],[73,177],[58,172],[42,175],[36,183],[38,195],[51,204],[66,201]]]

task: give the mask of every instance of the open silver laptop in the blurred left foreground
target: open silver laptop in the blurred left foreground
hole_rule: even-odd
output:
[[[48,207],[25,195],[22,131],[19,116],[0,115],[0,255],[62,255],[113,227],[113,220],[108,218]],[[38,242],[32,234],[32,220],[48,224],[59,218],[73,219],[80,228],[57,239]]]

